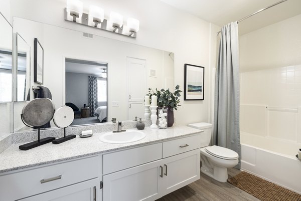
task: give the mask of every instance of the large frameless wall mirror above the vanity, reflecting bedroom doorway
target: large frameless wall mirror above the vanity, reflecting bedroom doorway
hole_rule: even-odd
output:
[[[75,126],[143,117],[148,88],[175,87],[171,52],[16,17],[14,30],[30,44],[32,55],[34,38],[41,43],[43,86],[51,91],[56,108],[75,106]],[[31,85],[39,84],[32,80]]]

